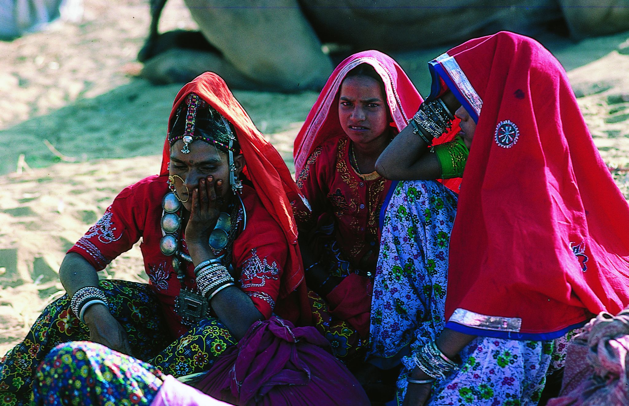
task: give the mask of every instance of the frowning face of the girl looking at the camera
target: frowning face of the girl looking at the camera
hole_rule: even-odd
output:
[[[369,76],[343,80],[338,119],[345,134],[357,144],[369,144],[389,128],[389,107],[379,82]]]

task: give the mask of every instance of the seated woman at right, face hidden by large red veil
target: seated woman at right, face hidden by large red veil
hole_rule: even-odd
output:
[[[537,405],[565,341],[591,315],[629,303],[629,206],[542,45],[501,32],[429,66],[431,96],[376,167],[429,179],[465,162],[456,219],[449,234],[454,199],[427,195],[428,182],[398,186],[370,351],[403,363],[404,405]],[[460,142],[447,155],[426,148],[453,111],[464,144],[473,138],[467,159]]]

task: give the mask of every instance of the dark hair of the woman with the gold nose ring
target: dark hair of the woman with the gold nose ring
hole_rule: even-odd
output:
[[[179,105],[179,109],[177,109],[177,114],[174,118],[174,123],[172,124],[172,128],[170,129],[170,133],[168,135],[170,145],[181,139],[186,129],[186,115],[187,115],[187,106],[186,102],[182,102]],[[234,129],[233,124],[229,121],[227,123],[230,126],[231,133],[236,136],[236,131]],[[229,145],[230,144],[230,136],[229,131],[225,128],[225,124],[223,123],[222,116],[220,112],[216,111],[214,107],[208,106],[205,104],[203,106],[197,107],[196,116],[194,118],[194,138],[200,139],[208,139],[214,140],[217,148],[226,152],[227,149],[223,148],[221,145]],[[235,151],[240,151],[240,145],[238,144],[238,138],[233,140],[233,148]]]

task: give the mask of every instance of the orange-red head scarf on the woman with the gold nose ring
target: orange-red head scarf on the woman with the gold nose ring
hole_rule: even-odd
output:
[[[243,173],[253,183],[255,192],[262,200],[265,209],[284,230],[289,243],[289,252],[279,293],[280,297],[286,297],[304,278],[297,245],[297,226],[291,209],[291,200],[301,201],[301,198],[291,173],[277,150],[255,128],[247,112],[231,94],[223,79],[213,72],[198,76],[179,91],[170,111],[169,130],[177,107],[190,93],[197,94],[233,124],[240,149],[245,156],[246,165]],[[166,138],[160,175],[168,173],[169,162],[170,144]]]

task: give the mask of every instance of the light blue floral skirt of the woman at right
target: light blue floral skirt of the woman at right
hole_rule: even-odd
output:
[[[370,354],[399,359],[398,404],[406,393],[409,355],[443,330],[448,244],[457,196],[435,181],[400,182],[387,206],[374,280]],[[433,385],[429,405],[537,405],[565,342],[477,337],[458,371]]]

